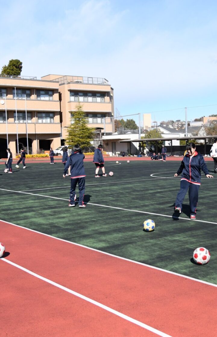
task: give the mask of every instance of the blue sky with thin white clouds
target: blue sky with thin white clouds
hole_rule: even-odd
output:
[[[18,58],[38,79],[106,78],[120,115],[217,114],[216,1],[9,0],[0,27],[0,67]]]

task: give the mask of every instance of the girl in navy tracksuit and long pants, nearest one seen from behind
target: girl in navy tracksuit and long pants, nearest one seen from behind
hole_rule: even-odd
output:
[[[73,147],[74,153],[71,154],[65,164],[63,171],[63,178],[66,176],[68,168],[71,166],[71,189],[69,195],[69,207],[75,206],[75,189],[78,184],[79,189],[79,207],[86,207],[84,204],[84,191],[85,191],[85,172],[84,172],[84,154],[81,153],[79,145]]]

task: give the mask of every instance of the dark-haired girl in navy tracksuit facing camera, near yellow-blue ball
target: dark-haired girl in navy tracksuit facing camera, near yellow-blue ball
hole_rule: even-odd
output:
[[[190,218],[196,219],[196,207],[198,202],[198,190],[200,187],[200,178],[202,170],[207,178],[213,178],[209,175],[204,157],[197,153],[194,143],[189,143],[186,147],[187,154],[184,156],[181,166],[174,177],[178,177],[182,172],[180,191],[175,200],[175,211],[182,212],[182,203],[188,191],[190,203]]]

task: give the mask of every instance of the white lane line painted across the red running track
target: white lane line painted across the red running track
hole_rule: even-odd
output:
[[[106,306],[106,305],[104,305],[104,304],[102,304],[102,303],[100,303],[100,302],[97,302],[97,301],[95,301],[95,300],[92,300],[92,299],[89,298],[89,297],[86,297],[86,296],[84,296],[84,295],[82,295],[82,294],[79,294],[79,293],[75,292],[75,291],[72,290],[72,289],[69,289],[69,288],[67,288],[67,287],[64,287],[63,285],[61,285],[61,284],[59,284],[59,283],[56,283],[56,282],[54,282],[54,281],[52,281],[52,280],[49,280],[49,279],[46,278],[46,277],[43,277],[43,276],[41,276],[41,275],[38,275],[38,274],[36,274],[36,273],[34,273],[34,272],[32,272],[32,271],[30,271],[30,270],[28,270],[28,269],[26,269],[26,268],[24,268],[24,267],[22,267],[22,266],[19,266],[19,265],[17,265],[16,263],[13,263],[13,262],[11,262],[11,261],[5,259],[5,258],[1,258],[1,260],[4,261],[4,262],[6,262],[6,263],[8,263],[8,264],[10,264],[10,265],[12,265],[13,267],[16,267],[16,268],[18,268],[18,269],[20,269],[20,270],[22,270],[22,271],[24,271],[24,272],[26,272],[26,273],[28,273],[28,274],[34,276],[34,277],[36,277],[36,278],[42,280],[42,281],[45,281],[45,282],[47,282],[47,283],[49,283],[49,284],[51,284],[51,285],[53,285],[53,286],[55,286],[55,287],[57,287],[57,288],[59,288],[59,289],[61,289],[61,290],[64,290],[64,291],[67,292],[67,293],[70,293],[70,294],[72,294],[72,295],[74,295],[74,296],[76,296],[76,297],[79,297],[80,299],[82,299],[82,300],[84,300],[84,301],[87,301],[87,302],[89,302],[89,303],[91,303],[91,304],[93,304],[93,305],[96,305],[96,306],[98,306],[98,307],[100,307],[100,308],[102,308],[102,309],[104,309],[104,310],[106,310],[106,311],[108,311],[108,312],[111,312],[112,314],[114,314],[114,315],[116,315],[116,316],[119,316],[119,317],[121,317],[121,318],[124,318],[124,319],[126,319],[127,321],[129,321],[129,322],[131,322],[131,323],[133,323],[133,324],[136,324],[136,325],[138,325],[138,326],[140,326],[140,327],[142,327],[142,328],[144,328],[144,329],[146,329],[146,330],[148,330],[148,331],[151,331],[151,332],[157,334],[158,336],[162,336],[162,337],[171,337],[170,335],[167,335],[167,334],[165,334],[164,332],[162,332],[162,331],[160,331],[160,330],[157,330],[157,329],[155,329],[155,328],[153,328],[153,327],[150,327],[149,325],[147,325],[147,324],[145,324],[145,323],[142,323],[142,322],[140,322],[140,321],[137,320],[137,319],[134,319],[134,318],[132,318],[132,317],[130,317],[130,316],[127,316],[127,315],[123,314],[122,312],[119,312],[119,311],[117,311],[117,310],[114,310],[114,309],[112,309],[112,308],[110,308],[110,307],[108,307],[108,306]]]

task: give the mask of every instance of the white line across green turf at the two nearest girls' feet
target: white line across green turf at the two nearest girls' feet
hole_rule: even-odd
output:
[[[29,192],[21,192],[21,191],[13,191],[13,190],[8,190],[8,189],[4,189],[4,188],[0,188],[0,190],[2,191],[7,191],[7,192],[15,192],[15,193],[23,193],[23,194],[30,194],[30,195],[36,195],[36,196],[42,196],[42,197],[46,197],[46,198],[52,198],[52,199],[57,199],[57,200],[65,200],[65,201],[69,201],[69,199],[64,199],[64,198],[58,198],[56,196],[50,196],[50,195],[44,195],[44,194],[36,194],[36,193],[29,193]],[[112,209],[116,209],[116,210],[121,210],[121,211],[127,211],[127,212],[135,212],[135,213],[142,213],[142,214],[151,214],[151,215],[157,215],[157,216],[165,216],[167,218],[172,218],[172,219],[180,219],[180,220],[187,220],[187,221],[197,221],[197,222],[202,222],[202,223],[212,223],[214,225],[217,225],[217,222],[211,222],[211,221],[205,221],[205,220],[191,220],[188,218],[181,218],[181,217],[176,217],[176,216],[172,216],[172,215],[165,215],[165,214],[159,214],[159,213],[151,213],[151,212],[144,212],[144,211],[137,211],[137,210],[130,210],[128,208],[121,208],[121,207],[114,207],[114,206],[107,206],[107,205],[101,205],[101,204],[93,204],[93,203],[89,203],[88,205],[93,205],[93,206],[100,206],[100,207],[107,207],[107,208],[112,208]]]

